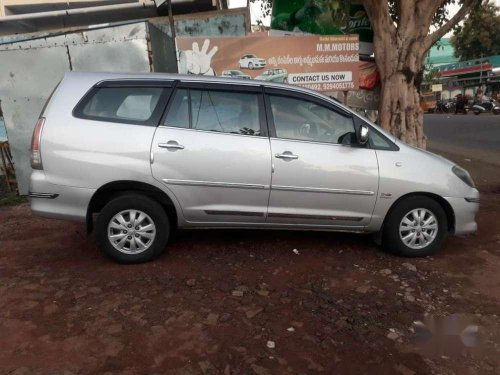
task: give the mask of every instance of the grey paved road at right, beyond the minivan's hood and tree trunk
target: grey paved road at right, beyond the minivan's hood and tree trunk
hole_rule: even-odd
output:
[[[500,116],[427,114],[430,150],[442,150],[500,165]]]

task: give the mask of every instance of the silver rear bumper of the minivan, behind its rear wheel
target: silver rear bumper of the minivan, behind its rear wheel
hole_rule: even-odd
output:
[[[30,179],[31,211],[38,216],[85,221],[95,189],[55,185],[43,171],[35,170]]]

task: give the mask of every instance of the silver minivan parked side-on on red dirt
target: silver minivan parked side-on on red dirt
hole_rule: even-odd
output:
[[[467,171],[283,84],[68,73],[31,162],[33,212],[95,226],[122,263],[158,256],[175,228],[374,233],[408,257],[477,230]]]

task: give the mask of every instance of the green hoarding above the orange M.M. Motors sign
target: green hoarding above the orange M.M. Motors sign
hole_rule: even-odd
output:
[[[373,30],[362,1],[274,0],[272,35],[358,34],[360,54],[373,53]]]

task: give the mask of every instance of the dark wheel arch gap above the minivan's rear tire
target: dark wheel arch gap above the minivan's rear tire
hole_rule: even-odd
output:
[[[104,184],[95,191],[94,195],[92,195],[87,208],[86,217],[88,233],[91,233],[94,228],[94,214],[99,213],[111,199],[126,193],[140,193],[155,200],[165,209],[172,226],[177,227],[177,209],[173,200],[167,193],[145,182],[120,180]]]

